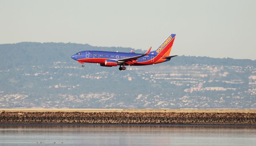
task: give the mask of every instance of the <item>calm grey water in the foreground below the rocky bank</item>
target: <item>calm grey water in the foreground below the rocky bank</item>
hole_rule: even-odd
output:
[[[256,126],[0,125],[0,145],[256,145]]]

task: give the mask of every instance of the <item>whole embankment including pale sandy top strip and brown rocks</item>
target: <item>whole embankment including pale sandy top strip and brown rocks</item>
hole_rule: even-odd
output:
[[[0,124],[256,125],[256,110],[0,109]]]

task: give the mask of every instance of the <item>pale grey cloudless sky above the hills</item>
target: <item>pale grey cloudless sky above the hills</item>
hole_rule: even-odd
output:
[[[255,0],[0,0],[0,44],[72,42],[146,50],[176,33],[171,55],[255,60],[255,27]]]

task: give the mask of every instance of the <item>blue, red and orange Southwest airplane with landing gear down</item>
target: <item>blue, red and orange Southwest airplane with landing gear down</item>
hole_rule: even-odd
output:
[[[120,66],[119,70],[125,70],[125,66],[142,66],[152,65],[170,61],[169,56],[172,44],[176,34],[171,34],[155,51],[150,52],[151,48],[144,54],[134,53],[133,50],[129,53],[124,52],[108,52],[108,51],[81,51],[72,55],[71,58],[79,63],[99,63],[100,66],[112,67]]]

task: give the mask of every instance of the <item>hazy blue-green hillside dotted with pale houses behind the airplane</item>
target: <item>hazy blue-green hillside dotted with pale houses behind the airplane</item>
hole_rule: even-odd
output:
[[[70,58],[76,43],[0,45],[0,108],[256,108],[256,61],[177,56],[151,66],[100,67]],[[144,53],[144,50],[134,50]]]

